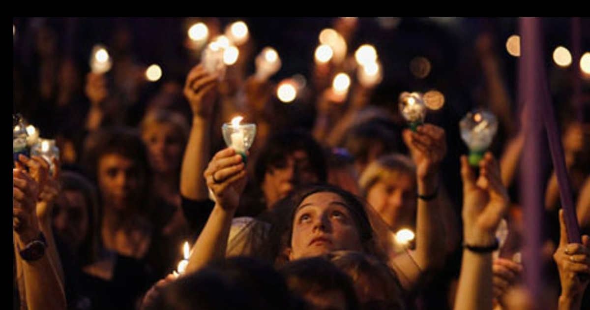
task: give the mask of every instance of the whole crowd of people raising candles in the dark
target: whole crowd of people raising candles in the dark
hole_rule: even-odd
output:
[[[354,21],[332,26],[352,43]],[[314,63],[287,107],[251,70],[254,40],[223,74],[197,62],[156,88],[139,77],[131,35],[116,32],[107,73],[79,74],[47,25],[34,61],[15,61],[14,112],[60,156],[15,157],[14,309],[590,307],[590,129],[559,118],[582,242],[568,241],[548,166],[533,300],[517,182],[526,122],[488,34],[473,47],[473,101],[500,130],[476,165],[455,122],[470,106],[410,129],[396,103],[375,102],[379,81],[337,96],[326,81],[342,61]],[[221,132],[236,115],[257,126],[244,154]]]

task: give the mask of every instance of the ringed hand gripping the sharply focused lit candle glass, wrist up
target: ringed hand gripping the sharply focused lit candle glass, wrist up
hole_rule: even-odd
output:
[[[242,156],[232,148],[217,152],[203,173],[215,201],[226,210],[235,210],[247,182]]]

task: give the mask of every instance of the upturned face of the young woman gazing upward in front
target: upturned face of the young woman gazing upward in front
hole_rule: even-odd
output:
[[[335,250],[362,251],[360,234],[347,205],[334,192],[307,196],[293,219],[289,259],[319,256]]]

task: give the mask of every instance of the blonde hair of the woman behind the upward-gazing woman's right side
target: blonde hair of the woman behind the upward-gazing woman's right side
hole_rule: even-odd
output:
[[[411,158],[403,154],[383,155],[373,161],[359,179],[359,187],[362,195],[366,197],[371,187],[379,180],[386,180],[394,174],[405,174],[416,177],[416,166]]]

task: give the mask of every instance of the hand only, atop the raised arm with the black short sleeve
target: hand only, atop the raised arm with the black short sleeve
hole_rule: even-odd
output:
[[[217,98],[218,76],[210,74],[202,64],[189,71],[183,93],[191,106],[193,117],[208,119]]]

